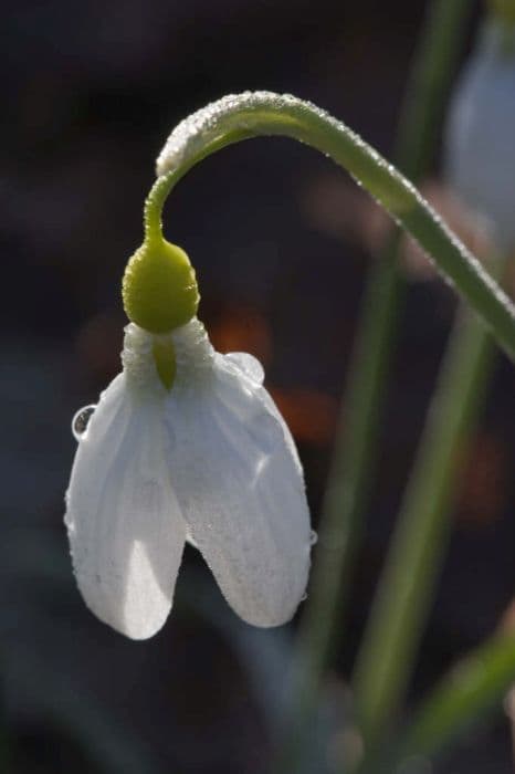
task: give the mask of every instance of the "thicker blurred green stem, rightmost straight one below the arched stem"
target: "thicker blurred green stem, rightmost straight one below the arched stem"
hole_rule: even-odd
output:
[[[456,474],[493,355],[480,321],[461,310],[355,670],[356,712],[372,759],[396,719],[413,668],[448,545]]]

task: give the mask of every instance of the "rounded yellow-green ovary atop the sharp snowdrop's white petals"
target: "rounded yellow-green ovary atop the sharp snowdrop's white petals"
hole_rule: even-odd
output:
[[[169,333],[197,314],[199,291],[188,255],[162,237],[147,238],[125,270],[127,317],[149,333]]]

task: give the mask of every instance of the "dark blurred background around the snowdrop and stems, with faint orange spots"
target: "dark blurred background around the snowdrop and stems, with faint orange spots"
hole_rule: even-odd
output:
[[[176,608],[157,637],[130,642],[99,624],[75,588],[62,524],[75,447],[70,422],[119,368],[120,276],[141,241],[154,159],[174,125],[230,92],[286,91],[327,108],[391,155],[428,6],[20,0],[3,7],[6,771],[9,761],[22,774],[265,771],[291,632],[254,631],[237,620],[193,550],[186,554]],[[463,55],[475,25],[476,18]],[[167,236],[197,268],[200,317],[214,344],[249,351],[266,367],[266,384],[305,464],[315,524],[372,217],[345,175],[285,139],[243,144],[204,161],[167,208]],[[349,674],[454,308],[443,283],[410,272],[336,682]],[[466,453],[412,701],[491,632],[509,605],[512,409],[513,372],[500,358]],[[509,760],[508,722],[500,713],[434,771],[507,774]]]

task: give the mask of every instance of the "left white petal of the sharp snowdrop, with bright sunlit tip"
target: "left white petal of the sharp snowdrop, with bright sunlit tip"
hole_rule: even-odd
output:
[[[90,419],[66,500],[86,605],[133,639],[151,637],[171,608],[186,525],[170,483],[162,401],[134,400],[125,375]]]

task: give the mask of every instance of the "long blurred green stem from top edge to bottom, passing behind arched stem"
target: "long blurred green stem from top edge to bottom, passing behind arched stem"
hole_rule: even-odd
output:
[[[433,158],[467,11],[469,0],[433,2],[418,44],[395,154],[402,171],[414,180],[427,174]],[[361,538],[403,294],[404,282],[396,260],[401,236],[397,231],[374,261],[365,290],[322,509],[316,562],[298,635],[291,717],[277,771],[298,767],[320,699],[323,672],[341,637],[336,624]]]

